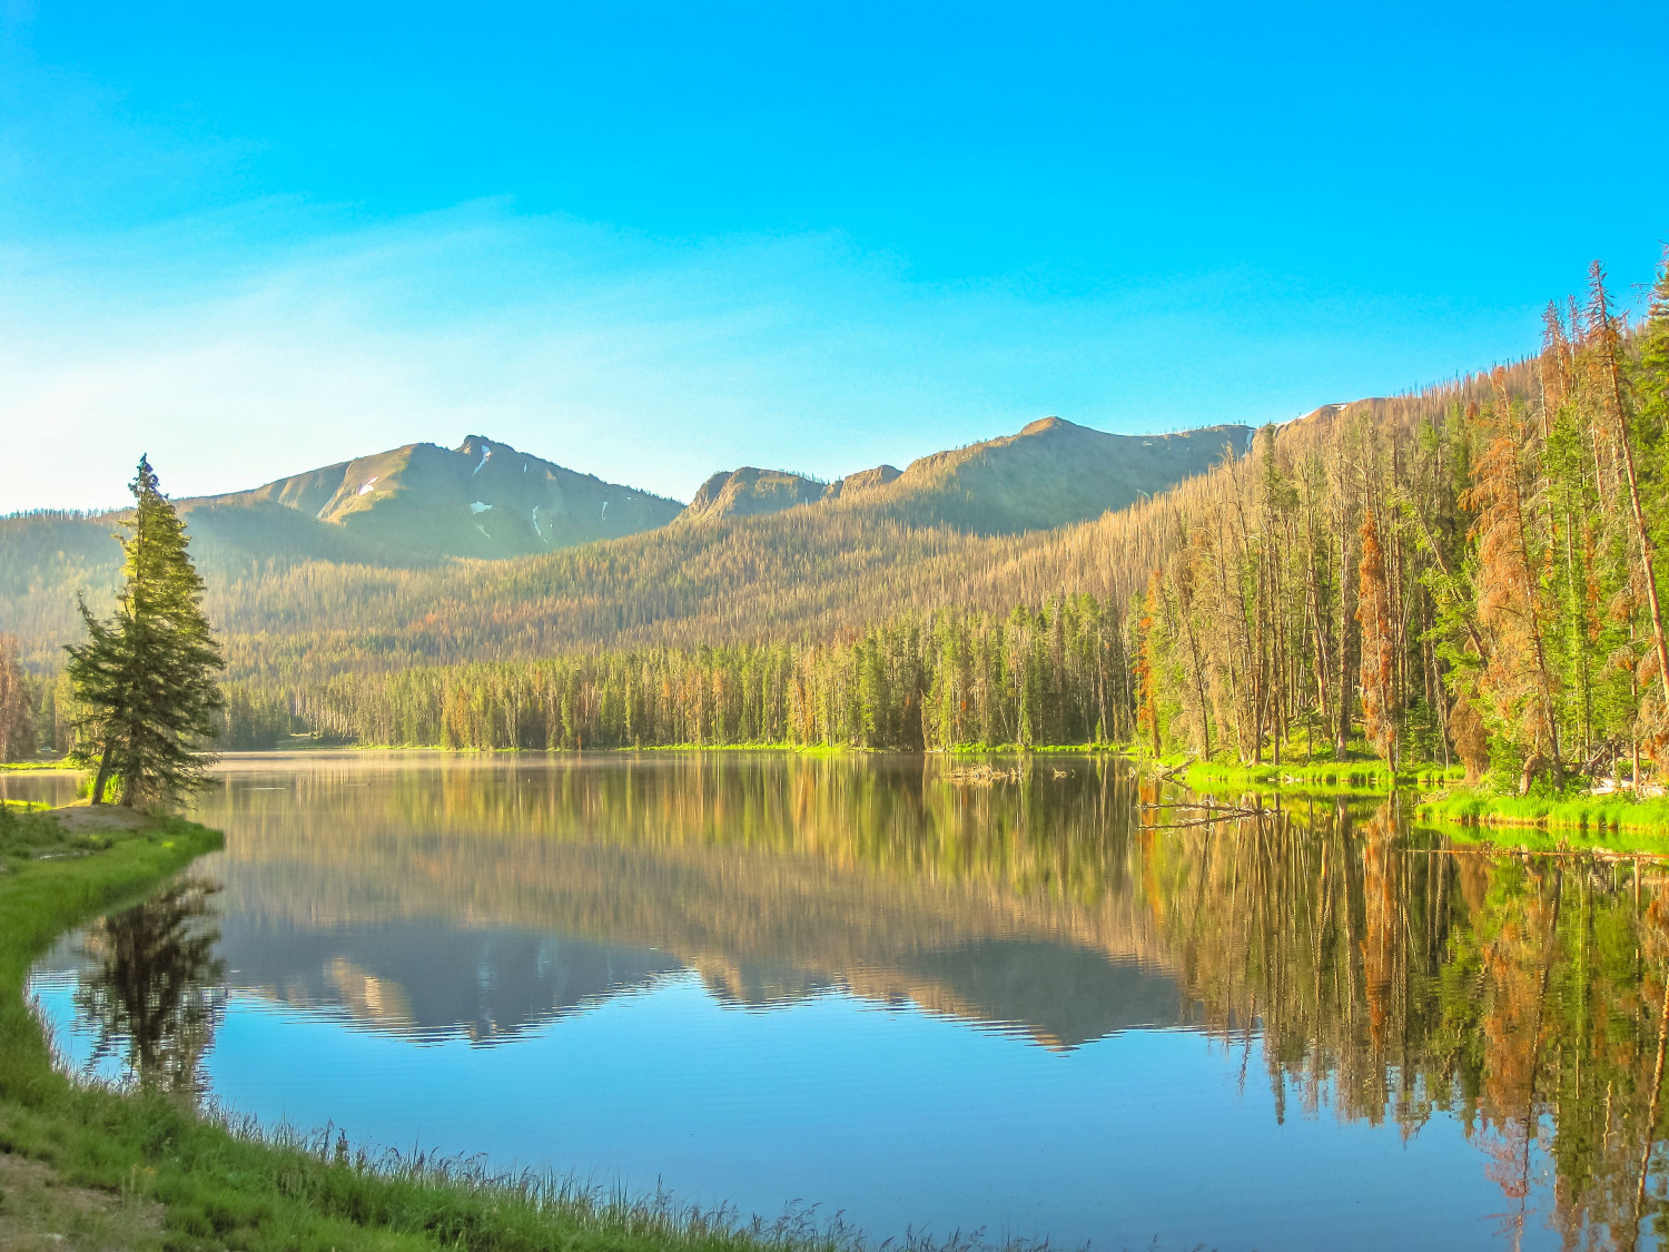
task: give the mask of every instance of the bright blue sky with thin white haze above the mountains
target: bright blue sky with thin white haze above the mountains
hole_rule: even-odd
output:
[[[688,499],[1535,351],[1669,5],[0,0],[0,512],[467,434]]]

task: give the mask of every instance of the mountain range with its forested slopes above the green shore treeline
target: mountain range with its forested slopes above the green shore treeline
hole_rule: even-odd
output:
[[[230,674],[277,679],[623,643],[824,638],[906,606],[1060,591],[1123,599],[1115,549],[1150,551],[1153,526],[1168,524],[1167,489],[1248,437],[1247,426],[1113,436],[1045,419],[903,472],[880,466],[831,484],[716,476],[683,512],[471,437],[180,507]],[[1153,506],[1123,507],[1145,494]],[[0,517],[0,633],[18,636],[37,671],[57,668],[78,633],[78,591],[95,611],[108,604],[113,519]]]

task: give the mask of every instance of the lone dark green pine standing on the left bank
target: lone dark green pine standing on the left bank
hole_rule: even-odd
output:
[[[135,507],[124,523],[115,614],[100,621],[80,606],[87,641],[67,649],[65,669],[80,704],[78,755],[98,763],[92,801],[103,803],[115,776],[125,806],[174,805],[200,786],[210,761],[200,743],[215,733],[225,663],[202,613],[185,526],[149,459],[129,487]]]

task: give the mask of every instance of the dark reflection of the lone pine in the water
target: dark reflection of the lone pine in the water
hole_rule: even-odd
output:
[[[199,1097],[200,1063],[225,1003],[214,896],[200,878],[170,883],[87,928],[75,1007],[98,1033],[88,1065],[125,1053],[140,1087]]]

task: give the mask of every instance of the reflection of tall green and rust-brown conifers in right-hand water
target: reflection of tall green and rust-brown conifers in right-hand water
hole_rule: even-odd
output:
[[[1644,860],[1444,846],[1392,805],[1238,821],[1155,878],[1208,1028],[1260,1022],[1277,1108],[1405,1135],[1449,1112],[1509,1244],[1547,1189],[1569,1247],[1624,1249],[1669,1234],[1661,883]]]

